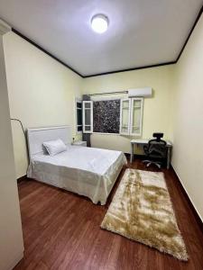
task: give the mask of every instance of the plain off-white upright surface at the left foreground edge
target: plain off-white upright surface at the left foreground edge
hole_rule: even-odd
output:
[[[0,22],[1,23],[1,22]],[[23,257],[23,234],[14,171],[12,130],[0,34],[0,269],[10,270]]]

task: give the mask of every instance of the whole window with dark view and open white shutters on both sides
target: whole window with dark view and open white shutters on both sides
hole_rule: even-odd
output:
[[[143,98],[83,101],[82,116],[83,126],[80,125],[79,128],[84,133],[120,133],[141,136],[143,129]]]

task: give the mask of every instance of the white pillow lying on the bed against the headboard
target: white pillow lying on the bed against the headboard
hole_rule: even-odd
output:
[[[50,156],[55,156],[67,150],[65,143],[61,139],[44,141],[43,146],[47,149]]]

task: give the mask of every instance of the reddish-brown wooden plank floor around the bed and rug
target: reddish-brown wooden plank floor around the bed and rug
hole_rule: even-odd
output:
[[[134,168],[146,169],[141,161]],[[154,170],[152,167],[149,170]],[[99,228],[105,206],[87,198],[27,180],[19,184],[24,258],[14,269],[203,269],[203,232],[172,169],[162,170],[171,194],[189,262]]]

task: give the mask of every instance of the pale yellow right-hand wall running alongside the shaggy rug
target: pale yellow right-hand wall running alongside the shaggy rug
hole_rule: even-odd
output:
[[[175,67],[172,166],[203,220],[203,15]]]

